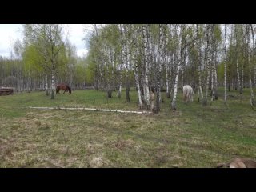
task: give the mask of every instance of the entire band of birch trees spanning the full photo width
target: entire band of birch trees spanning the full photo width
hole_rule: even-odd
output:
[[[18,90],[42,89],[54,98],[57,82],[73,89],[93,85],[117,90],[130,102],[130,87],[138,91],[138,108],[154,112],[161,108],[166,91],[176,110],[178,90],[189,84],[198,102],[218,99],[218,87],[227,91],[250,88],[254,102],[256,64],[253,24],[106,24],[92,25],[89,52],[78,58],[64,37],[62,25],[23,25],[23,41],[14,44],[14,56],[0,58],[2,85]],[[181,89],[182,90],[182,89]],[[155,98],[152,100],[152,95]],[[210,95],[210,97],[208,97]],[[123,96],[124,97],[124,96]],[[209,101],[208,101],[209,100]]]

